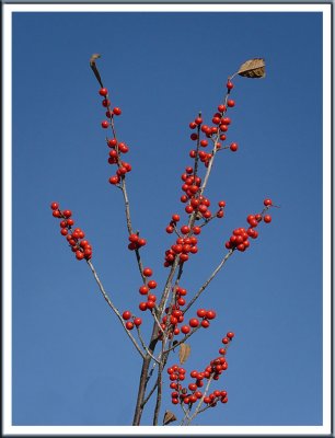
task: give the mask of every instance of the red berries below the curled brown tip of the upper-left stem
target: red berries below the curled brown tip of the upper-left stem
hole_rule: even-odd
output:
[[[102,105],[107,110],[106,117],[109,120],[103,120],[101,126],[104,129],[107,129],[109,126],[112,127],[113,138],[106,138],[106,142],[108,148],[111,149],[108,152],[108,163],[116,164],[117,171],[116,174],[109,177],[109,183],[113,185],[118,184],[122,178],[125,177],[126,173],[131,171],[131,165],[126,161],[122,160],[122,154],[127,153],[129,151],[129,147],[123,142],[117,141],[114,128],[114,116],[119,116],[122,114],[122,110],[116,106],[113,110],[111,108],[111,101],[108,97],[108,90],[105,88],[100,89],[99,94],[103,96]]]

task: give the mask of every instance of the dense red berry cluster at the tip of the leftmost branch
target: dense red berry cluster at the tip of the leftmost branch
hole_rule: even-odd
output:
[[[85,233],[80,229],[76,228],[72,230],[74,226],[74,220],[71,218],[71,210],[60,210],[58,203],[51,203],[50,205],[53,210],[53,216],[55,218],[61,219],[59,222],[60,226],[60,234],[67,238],[69,242],[69,246],[71,251],[74,253],[76,258],[81,261],[83,258],[90,260],[92,258],[92,246],[88,240],[84,240]]]

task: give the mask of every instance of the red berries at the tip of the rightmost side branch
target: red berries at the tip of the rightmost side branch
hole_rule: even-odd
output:
[[[269,223],[272,221],[270,215],[265,215],[265,211],[273,206],[272,199],[264,199],[264,210],[256,215],[249,215],[246,217],[246,221],[249,223],[249,228],[235,228],[230,237],[229,241],[226,242],[226,247],[228,250],[238,250],[244,252],[250,246],[249,238],[257,239],[258,232],[255,228],[258,226],[262,220],[265,223]]]

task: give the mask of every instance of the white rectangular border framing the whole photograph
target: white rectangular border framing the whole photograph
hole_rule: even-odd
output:
[[[3,229],[2,229],[2,419],[3,435],[330,435],[332,281],[332,4],[2,4],[3,37]],[[323,425],[322,426],[12,426],[12,13],[13,12],[322,12],[323,13]],[[5,104],[4,104],[5,103]],[[4,256],[5,255],[5,256]]]

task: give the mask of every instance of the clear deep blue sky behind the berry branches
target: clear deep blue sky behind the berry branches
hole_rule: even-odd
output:
[[[219,157],[207,193],[213,204],[227,201],[226,218],[204,230],[199,253],[186,264],[189,293],[265,197],[281,208],[198,301],[218,318],[190,338],[186,368],[204,367],[234,331],[218,384],[229,403],[197,424],[321,425],[320,13],[14,14],[13,424],[131,424],[140,358],[49,209],[57,200],[73,211],[106,290],[120,310],[137,312],[141,279],[127,250],[120,192],[107,182],[93,53],[103,54],[103,80],[123,110],[116,122],[130,147],[134,227],[148,240],[143,263],[160,286],[172,243],[164,229],[184,208],[188,123],[198,111],[209,122],[227,77],[246,59],[265,58],[265,79],[235,80],[229,140],[240,149]],[[149,322],[146,314],[147,334]],[[166,391],[162,412],[172,408]]]

